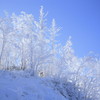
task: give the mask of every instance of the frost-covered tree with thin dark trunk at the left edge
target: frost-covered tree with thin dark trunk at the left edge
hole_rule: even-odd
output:
[[[11,49],[11,39],[9,38],[12,34],[11,19],[6,16],[0,18],[0,66],[8,67],[9,61],[9,50]]]

